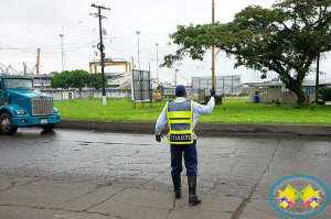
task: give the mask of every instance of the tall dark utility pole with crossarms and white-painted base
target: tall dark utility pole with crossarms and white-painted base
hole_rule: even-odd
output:
[[[105,19],[106,17],[102,15],[102,9],[103,10],[109,10],[109,8],[105,8],[104,6],[96,6],[96,4],[92,4],[90,7],[94,7],[96,9],[98,9],[98,13],[90,13],[89,15],[94,15],[95,18],[99,18],[99,35],[100,35],[100,43],[98,44],[98,50],[100,51],[100,58],[102,58],[102,77],[103,77],[103,105],[106,106],[107,105],[107,100],[106,100],[106,89],[105,89],[105,64],[104,64],[104,58],[105,58],[105,46],[103,43],[103,26],[102,26],[102,20]]]

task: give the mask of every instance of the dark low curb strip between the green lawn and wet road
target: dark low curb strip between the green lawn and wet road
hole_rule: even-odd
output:
[[[56,128],[60,129],[137,134],[153,134],[154,127],[154,122],[96,122],[76,120],[63,120],[56,124]],[[163,133],[167,132],[168,128],[166,127]],[[197,123],[195,132],[199,135],[205,136],[220,136],[221,134],[331,136],[331,125]]]

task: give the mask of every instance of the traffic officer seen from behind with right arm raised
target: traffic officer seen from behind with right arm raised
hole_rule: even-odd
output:
[[[189,204],[199,205],[201,199],[197,198],[196,191],[196,175],[197,175],[197,151],[196,136],[194,127],[196,117],[202,117],[211,113],[215,106],[215,90],[211,90],[211,99],[207,106],[202,106],[196,102],[186,101],[186,90],[182,85],[175,88],[174,101],[166,103],[156,125],[156,140],[161,142],[161,131],[164,124],[168,123],[169,133],[168,141],[171,147],[171,175],[175,198],[181,198],[181,172],[182,157],[186,167],[186,176],[189,184]]]

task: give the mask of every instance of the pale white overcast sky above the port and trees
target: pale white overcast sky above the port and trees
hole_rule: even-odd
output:
[[[234,14],[249,4],[265,8],[274,1],[265,0],[215,0],[215,20],[222,23],[233,20]],[[157,75],[157,46],[159,64],[163,56],[173,53],[169,34],[177,24],[204,24],[212,20],[212,0],[11,0],[1,2],[0,13],[0,63],[13,66],[18,72],[25,62],[32,69],[36,63],[36,50],[41,48],[41,72],[62,72],[61,39],[64,33],[65,69],[88,69],[94,58],[93,45],[98,43],[98,20],[90,4],[103,4],[111,11],[103,11],[107,20],[104,37],[106,57],[135,59],[138,66],[138,37],[140,31],[140,68]],[[96,50],[97,51],[97,50]],[[99,56],[96,56],[99,58]],[[179,84],[191,83],[192,76],[211,76],[211,55],[203,62],[185,58],[181,62]],[[242,75],[242,83],[257,81],[259,73],[244,67],[234,69],[234,62],[220,55],[216,58],[216,76]],[[321,62],[321,70],[331,69],[329,59]],[[124,67],[106,67],[106,72],[122,72]],[[100,70],[99,70],[100,72]],[[159,68],[161,80],[173,81],[174,69]],[[327,75],[327,77],[331,77]],[[277,76],[275,73],[269,77]],[[311,75],[309,78],[313,78]],[[323,77],[323,76],[322,76]],[[260,81],[260,79],[259,79]]]

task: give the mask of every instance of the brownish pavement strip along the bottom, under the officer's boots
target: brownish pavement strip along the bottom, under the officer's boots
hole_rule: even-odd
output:
[[[171,189],[152,190],[6,175],[0,176],[0,194],[1,219],[231,219],[241,205],[241,200],[235,198],[200,194],[202,204],[190,207],[188,193],[183,193],[182,199],[174,199]],[[247,216],[241,219],[257,216],[254,209],[246,208],[245,211]]]

